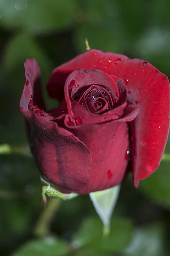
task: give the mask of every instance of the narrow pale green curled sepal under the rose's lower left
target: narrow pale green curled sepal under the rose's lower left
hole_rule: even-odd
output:
[[[70,193],[70,194],[64,194],[57,189],[54,189],[46,180],[44,180],[42,177],[40,177],[41,182],[43,183],[42,187],[42,197],[43,197],[43,202],[46,205],[46,195],[52,198],[59,198],[62,200],[70,200],[72,198],[75,198],[78,196],[77,193]]]

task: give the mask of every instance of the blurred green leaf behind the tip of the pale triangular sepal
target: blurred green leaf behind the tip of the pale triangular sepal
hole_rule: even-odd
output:
[[[133,227],[129,219],[113,218],[111,232],[103,236],[102,223],[98,218],[86,219],[75,236],[72,246],[80,248],[87,246],[96,250],[121,251],[130,242]]]

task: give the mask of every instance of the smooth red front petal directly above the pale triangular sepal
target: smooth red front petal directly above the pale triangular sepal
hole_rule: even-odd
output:
[[[72,126],[89,148],[92,156],[88,184],[78,193],[90,193],[120,184],[127,168],[129,137],[125,122],[111,121],[97,125]]]

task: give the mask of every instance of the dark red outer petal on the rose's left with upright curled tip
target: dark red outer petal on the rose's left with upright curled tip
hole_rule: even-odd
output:
[[[38,67],[34,60],[29,60],[25,64],[28,82],[20,100],[20,111],[32,127],[29,139],[35,161],[41,174],[52,183],[63,187],[63,192],[83,189],[89,180],[91,170],[89,149],[71,132],[58,127],[47,113],[39,115],[41,112],[29,110],[30,93],[36,92],[33,99],[39,97],[35,86],[40,73],[35,66]]]

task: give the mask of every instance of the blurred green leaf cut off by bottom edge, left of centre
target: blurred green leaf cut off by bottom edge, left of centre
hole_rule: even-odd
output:
[[[32,240],[20,247],[12,256],[65,256],[69,247],[54,237]]]

